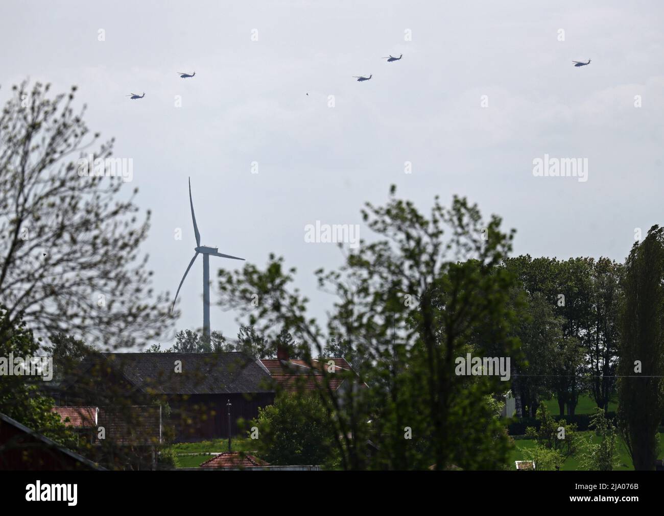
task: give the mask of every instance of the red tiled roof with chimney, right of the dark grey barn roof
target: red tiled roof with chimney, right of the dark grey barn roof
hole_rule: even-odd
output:
[[[336,391],[344,381],[343,375],[333,377],[333,373],[328,371],[331,367],[329,361],[334,362],[334,372],[351,371],[351,366],[343,358],[328,358],[323,361],[313,360],[313,365],[319,369],[324,369],[328,373],[329,385]],[[309,366],[303,360],[289,360],[288,362],[278,359],[265,359],[261,363],[270,371],[270,376],[274,378],[286,391],[295,392],[301,385],[305,391],[315,390],[315,379],[309,374]],[[322,372],[316,372],[317,376],[322,376]]]

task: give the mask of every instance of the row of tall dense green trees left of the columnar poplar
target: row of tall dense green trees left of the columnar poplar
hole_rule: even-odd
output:
[[[620,357],[623,265],[522,255],[505,267],[517,277],[523,303],[517,336],[524,357],[512,371],[517,415],[535,416],[539,401],[553,395],[560,415],[573,416],[584,393],[607,412]]]

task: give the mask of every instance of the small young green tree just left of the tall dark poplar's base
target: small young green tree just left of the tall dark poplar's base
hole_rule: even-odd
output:
[[[580,464],[584,470],[612,471],[620,467],[620,454],[618,454],[618,428],[614,426],[598,407],[590,418],[590,428],[593,434],[583,445]],[[593,442],[594,438],[597,442]]]

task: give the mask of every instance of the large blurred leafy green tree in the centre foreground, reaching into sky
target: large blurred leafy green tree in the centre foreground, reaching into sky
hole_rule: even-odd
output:
[[[500,468],[509,438],[486,396],[504,384],[497,375],[456,375],[455,364],[467,352],[517,354],[514,279],[499,267],[512,234],[461,198],[448,209],[436,198],[424,216],[395,198],[394,187],[388,204],[367,204],[363,218],[378,239],[361,241],[339,271],[317,271],[321,287],[337,296],[327,335],[291,288],[295,269],[274,255],[264,270],[250,263],[221,270],[220,305],[266,335],[286,329],[303,343],[310,367],[301,376],[329,415],[342,468]],[[355,371],[321,369],[313,356],[323,356],[331,338],[367,359]],[[345,389],[333,387],[340,381]],[[380,443],[377,452],[369,453],[368,441]]]

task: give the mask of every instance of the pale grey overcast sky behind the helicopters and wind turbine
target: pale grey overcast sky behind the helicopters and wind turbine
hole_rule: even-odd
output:
[[[392,183],[422,210],[459,194],[499,214],[517,229],[515,254],[622,261],[636,227],[664,223],[663,12],[661,1],[3,0],[0,99],[26,77],[79,87],[90,129],[133,159],[156,290],[172,296],[194,253],[191,176],[202,243],[258,265],[284,255],[321,316],[332,298],[312,273],[341,254],[305,243],[305,225],[362,224],[363,203],[384,202]],[[587,182],[533,176],[545,153],[587,158]],[[177,329],[202,326],[202,275],[199,257]],[[211,320],[235,336],[230,314],[212,306]]]

